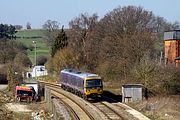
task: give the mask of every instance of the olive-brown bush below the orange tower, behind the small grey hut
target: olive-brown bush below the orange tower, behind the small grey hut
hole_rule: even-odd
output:
[[[180,69],[159,65],[147,57],[141,59],[130,72],[131,83],[142,84],[150,95],[180,94]]]

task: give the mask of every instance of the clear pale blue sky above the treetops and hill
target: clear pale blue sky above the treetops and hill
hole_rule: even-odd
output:
[[[68,24],[81,13],[97,13],[103,18],[121,6],[141,6],[169,22],[180,21],[180,0],[0,0],[0,23],[42,28],[47,20]]]

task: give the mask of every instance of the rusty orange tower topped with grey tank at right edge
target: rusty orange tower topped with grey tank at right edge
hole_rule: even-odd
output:
[[[180,66],[180,30],[164,32],[165,64]]]

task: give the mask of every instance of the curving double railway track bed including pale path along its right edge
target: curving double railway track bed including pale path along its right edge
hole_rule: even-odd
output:
[[[90,102],[61,89],[60,85],[45,83],[51,95],[62,101],[73,120],[149,120],[132,108],[103,96],[102,101]],[[131,111],[131,112],[129,112]]]

